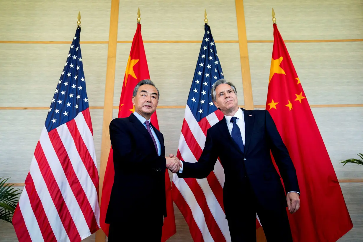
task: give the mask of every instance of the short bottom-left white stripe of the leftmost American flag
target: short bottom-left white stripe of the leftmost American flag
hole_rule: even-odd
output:
[[[32,241],[44,242],[42,232],[40,231],[37,218],[34,215],[28,193],[24,190],[20,195],[19,208],[25,222],[26,229],[28,230],[29,236]]]

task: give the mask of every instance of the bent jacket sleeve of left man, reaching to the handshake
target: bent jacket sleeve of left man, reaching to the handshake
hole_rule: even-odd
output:
[[[135,151],[132,147],[130,134],[126,131],[126,125],[119,125],[118,120],[114,119],[110,123],[110,139],[114,152],[121,157],[125,168],[138,168],[159,170],[165,172],[166,159],[164,156],[145,155],[142,151]]]

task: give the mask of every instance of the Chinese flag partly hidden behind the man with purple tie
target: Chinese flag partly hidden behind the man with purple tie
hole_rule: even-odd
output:
[[[132,92],[136,84],[143,80],[150,79],[149,69],[147,67],[146,54],[144,50],[144,43],[141,37],[141,24],[137,25],[134,39],[132,40],[131,51],[129,60],[127,61],[125,77],[123,79],[120,105],[118,109],[118,118],[125,118],[130,116],[135,111],[132,105]],[[151,116],[151,123],[159,130],[158,118],[156,111]],[[101,208],[100,208],[100,225],[102,230],[108,236],[109,224],[105,223],[106,212],[109,206],[111,188],[114,182],[114,164],[113,164],[113,150],[111,147],[109,159],[107,161],[105,179],[102,186]],[[174,207],[171,199],[171,183],[168,171],[165,172],[165,192],[166,192],[166,206],[167,217],[164,220],[162,231],[162,242],[166,241],[173,234],[176,233]],[[140,221],[142,218],[140,218]]]

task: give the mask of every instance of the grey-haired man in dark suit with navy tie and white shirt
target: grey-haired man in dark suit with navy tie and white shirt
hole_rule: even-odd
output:
[[[223,202],[232,241],[256,241],[257,213],[267,241],[292,242],[286,206],[290,213],[299,209],[299,185],[273,119],[265,110],[239,108],[236,88],[224,79],[215,82],[212,100],[224,118],[208,129],[198,162],[182,161],[178,177],[205,178],[219,157],[225,173]]]

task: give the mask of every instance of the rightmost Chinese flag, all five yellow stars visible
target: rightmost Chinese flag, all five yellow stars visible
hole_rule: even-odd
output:
[[[353,224],[285,43],[276,24],[273,28],[266,110],[289,150],[299,181],[300,208],[288,214],[291,233],[294,241],[337,241]]]

